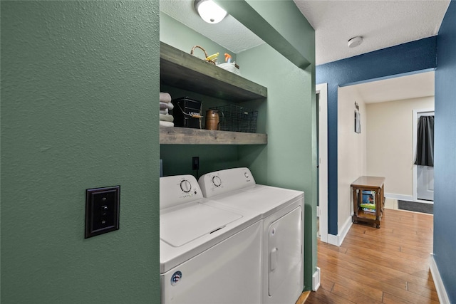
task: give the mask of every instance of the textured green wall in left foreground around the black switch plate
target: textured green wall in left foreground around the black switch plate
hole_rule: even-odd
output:
[[[158,303],[159,1],[1,1],[1,303]],[[84,239],[86,189],[120,229]]]

